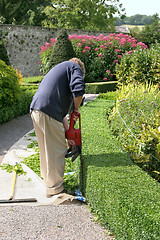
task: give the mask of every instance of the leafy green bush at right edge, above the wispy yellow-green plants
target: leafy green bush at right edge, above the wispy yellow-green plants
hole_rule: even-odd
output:
[[[145,82],[158,84],[160,79],[159,56],[160,44],[153,45],[146,50],[138,47],[130,54],[123,55],[120,64],[116,66],[118,85]]]

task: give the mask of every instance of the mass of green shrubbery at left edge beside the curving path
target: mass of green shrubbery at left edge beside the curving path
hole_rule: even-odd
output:
[[[24,78],[0,60],[0,124],[29,113],[32,97],[42,77]],[[27,85],[26,85],[27,84]]]

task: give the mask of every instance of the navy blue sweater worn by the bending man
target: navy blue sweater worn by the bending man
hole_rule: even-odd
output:
[[[35,93],[30,111],[40,110],[62,122],[73,102],[73,97],[85,93],[85,82],[80,66],[71,61],[54,66],[43,78]]]

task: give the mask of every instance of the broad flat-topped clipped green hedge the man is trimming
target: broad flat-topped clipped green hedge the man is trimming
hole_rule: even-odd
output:
[[[97,99],[81,109],[82,192],[119,240],[158,240],[160,185],[124,152],[109,129],[113,101]]]

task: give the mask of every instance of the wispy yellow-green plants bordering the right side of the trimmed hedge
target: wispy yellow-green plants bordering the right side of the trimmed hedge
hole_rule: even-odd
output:
[[[160,181],[160,92],[153,85],[129,84],[117,94],[112,130],[132,160]]]

